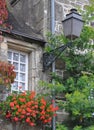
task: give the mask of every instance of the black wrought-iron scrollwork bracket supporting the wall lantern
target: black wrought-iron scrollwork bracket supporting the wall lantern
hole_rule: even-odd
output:
[[[45,52],[43,54],[43,71],[47,70],[49,66],[60,56],[60,54],[71,45],[67,43],[61,47],[58,47],[50,52]]]

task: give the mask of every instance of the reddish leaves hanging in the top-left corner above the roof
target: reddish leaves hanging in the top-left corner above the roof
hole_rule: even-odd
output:
[[[0,25],[2,25],[8,18],[8,11],[6,7],[6,1],[0,0]]]

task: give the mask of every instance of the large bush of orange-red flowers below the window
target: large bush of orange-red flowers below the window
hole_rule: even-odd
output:
[[[2,112],[7,119],[27,123],[30,126],[37,125],[38,122],[42,124],[51,122],[58,109],[58,107],[54,108],[43,97],[36,96],[35,92],[12,94],[0,106],[2,106]]]

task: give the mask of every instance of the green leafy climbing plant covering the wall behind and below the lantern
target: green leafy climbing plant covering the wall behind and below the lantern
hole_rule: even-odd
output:
[[[85,6],[86,11],[82,11],[85,23],[80,37],[59,57],[65,63],[63,78],[52,74],[56,84],[47,84],[47,89],[54,88],[57,93],[66,94],[66,103],[60,104],[69,112],[72,123],[75,122],[73,130],[94,129],[91,126],[94,122],[94,27],[90,26],[94,22],[94,0],[89,2],[90,5]],[[45,51],[50,52],[68,41],[63,34],[56,36],[49,33]],[[60,129],[63,130],[63,126]]]

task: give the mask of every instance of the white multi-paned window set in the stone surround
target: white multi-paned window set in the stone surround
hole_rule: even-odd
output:
[[[28,54],[20,51],[9,50],[8,62],[15,66],[16,79],[11,91],[24,91],[28,86]]]

